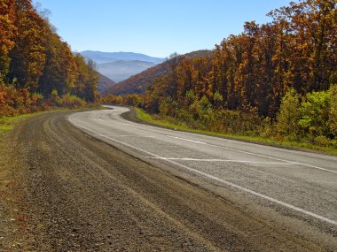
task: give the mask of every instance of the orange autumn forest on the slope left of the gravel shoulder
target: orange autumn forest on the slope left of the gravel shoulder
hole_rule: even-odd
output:
[[[96,65],[71,51],[31,0],[0,0],[0,117],[97,100]]]

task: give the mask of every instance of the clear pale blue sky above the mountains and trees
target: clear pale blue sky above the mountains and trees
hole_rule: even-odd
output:
[[[213,49],[245,21],[270,21],[288,0],[34,0],[72,50],[134,51],[153,57]]]

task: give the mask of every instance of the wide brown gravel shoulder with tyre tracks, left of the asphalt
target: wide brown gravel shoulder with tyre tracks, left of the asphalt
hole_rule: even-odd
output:
[[[18,195],[5,202],[14,220],[1,224],[0,251],[333,251],[83,134],[66,115],[27,119],[11,135],[1,188]]]

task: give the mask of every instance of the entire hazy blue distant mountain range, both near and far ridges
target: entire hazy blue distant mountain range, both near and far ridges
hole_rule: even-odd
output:
[[[150,57],[135,52],[102,52],[84,50],[80,54],[92,59],[98,65],[98,72],[115,82],[126,80],[154,65],[161,64],[165,58]]]

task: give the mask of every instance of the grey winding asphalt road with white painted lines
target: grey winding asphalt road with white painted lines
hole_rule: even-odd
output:
[[[128,108],[75,113],[82,131],[220,195],[247,197],[327,230],[337,226],[337,157],[147,126]],[[222,190],[220,188],[224,188]],[[236,196],[235,196],[236,197]]]

